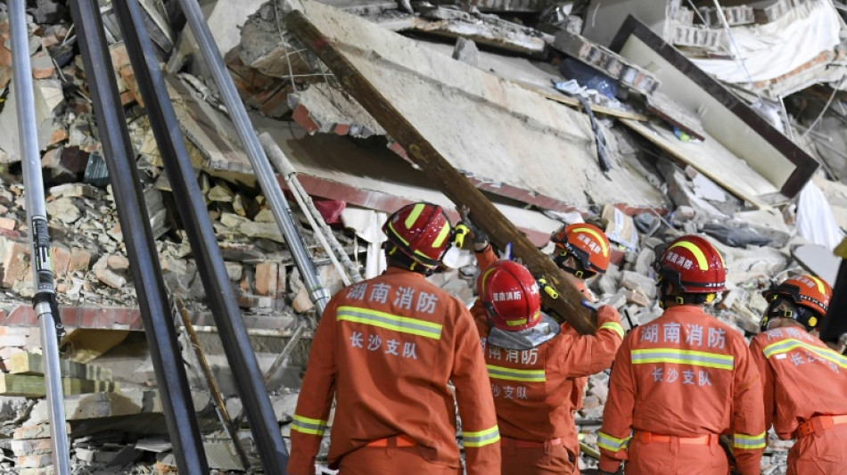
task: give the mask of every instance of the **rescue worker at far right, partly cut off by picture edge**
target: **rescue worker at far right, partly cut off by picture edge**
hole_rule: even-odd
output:
[[[764,296],[768,309],[750,351],[764,384],[765,427],[797,439],[787,475],[847,473],[847,357],[810,333],[832,290],[800,275]]]

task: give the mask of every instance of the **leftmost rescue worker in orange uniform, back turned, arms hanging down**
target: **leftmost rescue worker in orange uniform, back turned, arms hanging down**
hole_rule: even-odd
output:
[[[399,209],[382,227],[388,269],[333,296],[317,326],[292,422],[288,472],[315,473],[335,397],[329,464],[341,475],[500,470],[500,435],[479,332],[465,305],[424,278],[448,250],[439,206]]]

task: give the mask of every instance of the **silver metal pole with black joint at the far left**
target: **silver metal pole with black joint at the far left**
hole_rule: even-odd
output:
[[[21,142],[23,183],[29,225],[29,247],[32,252],[32,299],[41,327],[41,350],[44,357],[45,392],[50,420],[50,446],[53,470],[70,475],[70,448],[65,430],[65,403],[62,394],[62,369],[59,366],[59,306],[53,286],[50,265],[50,235],[41,157],[38,153],[36,101],[33,92],[32,66],[29,61],[29,29],[24,0],[9,0],[9,33],[12,39],[12,74],[15,106],[18,112],[18,136]]]

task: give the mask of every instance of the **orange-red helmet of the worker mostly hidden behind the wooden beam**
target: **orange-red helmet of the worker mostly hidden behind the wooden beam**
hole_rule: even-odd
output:
[[[563,226],[550,236],[550,240],[555,243],[554,260],[560,267],[563,267],[564,258],[572,255],[582,265],[582,271],[568,269],[574,273],[588,271],[605,274],[606,269],[609,268],[609,261],[612,258],[609,238],[596,225],[579,223]],[[582,274],[577,276],[582,277]]]

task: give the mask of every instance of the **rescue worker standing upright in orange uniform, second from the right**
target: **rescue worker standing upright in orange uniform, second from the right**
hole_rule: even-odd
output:
[[[600,473],[726,475],[720,434],[736,471],[758,475],[765,446],[761,379],[741,333],[703,306],[725,290],[718,250],[695,235],[670,242],[656,263],[664,313],[626,336],[615,356]],[[631,437],[630,437],[631,436]]]

